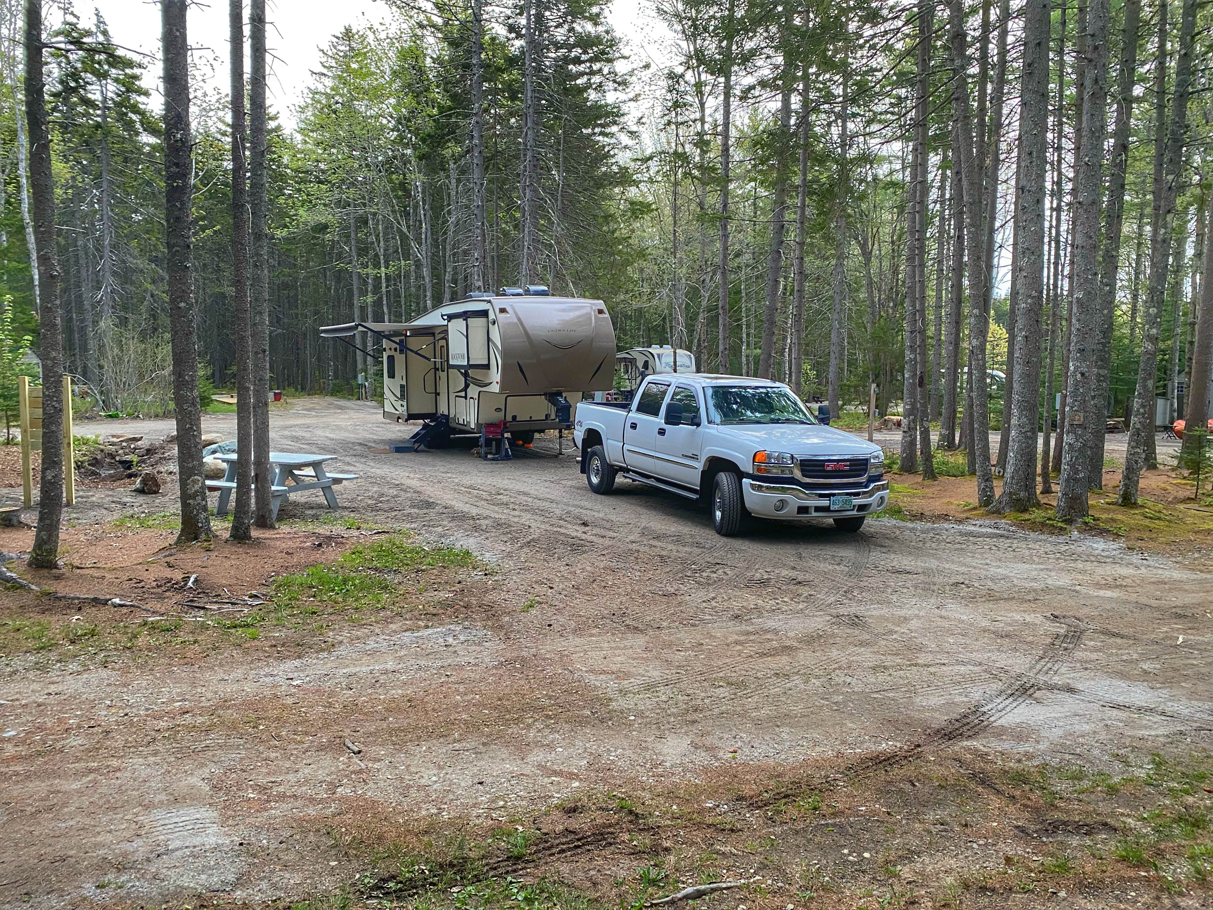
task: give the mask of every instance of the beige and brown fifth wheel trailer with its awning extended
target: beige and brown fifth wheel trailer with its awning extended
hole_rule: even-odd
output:
[[[383,417],[421,420],[428,438],[479,433],[506,421],[511,433],[568,430],[566,393],[609,389],[615,328],[599,300],[505,289],[445,303],[410,323],[346,323],[320,329],[381,342]]]

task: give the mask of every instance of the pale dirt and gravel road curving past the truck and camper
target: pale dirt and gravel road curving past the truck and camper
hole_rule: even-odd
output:
[[[492,562],[465,588],[483,619],[351,627],[289,662],[0,661],[0,819],[23,831],[0,904],[326,887],[344,870],[304,820],[354,804],[505,818],[734,760],[975,743],[1098,764],[1211,743],[1208,575],[998,524],[723,539],[674,496],[592,495],[547,442],[508,463],[383,451],[408,432],[321,400],[273,427],[275,448],[361,474],[343,508]],[[125,508],[87,495],[81,516]]]

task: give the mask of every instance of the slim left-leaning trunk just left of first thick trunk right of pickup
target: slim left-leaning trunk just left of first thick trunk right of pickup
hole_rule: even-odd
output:
[[[959,112],[961,175],[964,181],[966,233],[968,234],[969,278],[969,370],[966,389],[972,413],[972,451],[978,477],[978,505],[993,502],[993,471],[990,465],[990,400],[986,392],[986,342],[989,314],[985,300],[985,261],[981,244],[981,177],[973,154],[973,125],[969,118],[968,51],[964,38],[964,6],[949,0],[953,66],[952,102]]]

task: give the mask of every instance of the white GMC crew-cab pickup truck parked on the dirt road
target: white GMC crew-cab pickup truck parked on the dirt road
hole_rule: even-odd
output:
[[[768,380],[649,376],[631,403],[579,404],[574,439],[594,493],[622,476],[706,500],[725,536],[750,516],[832,518],[858,531],[889,500],[878,447],[818,423],[791,388]]]

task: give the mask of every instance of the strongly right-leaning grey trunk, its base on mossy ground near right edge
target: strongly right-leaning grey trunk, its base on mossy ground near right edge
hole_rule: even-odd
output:
[[[1158,74],[1166,84],[1166,0],[1160,4],[1160,52]],[[1133,400],[1133,423],[1129,427],[1128,453],[1117,502],[1135,506],[1141,471],[1146,463],[1146,445],[1154,440],[1154,398],[1158,370],[1158,324],[1167,289],[1167,271],[1171,265],[1172,223],[1175,217],[1175,194],[1180,164],[1184,158],[1184,135],[1188,127],[1188,92],[1192,73],[1192,35],[1196,30],[1196,0],[1184,0],[1179,25],[1179,59],[1175,63],[1174,97],[1171,125],[1166,132],[1166,148],[1160,169],[1155,155],[1154,207],[1155,229],[1150,238],[1150,278],[1146,291],[1145,313],[1141,319],[1141,360],[1138,365],[1137,393]],[[1164,98],[1164,93],[1162,96]],[[1164,101],[1160,107],[1164,113]],[[1157,118],[1155,142],[1163,141],[1163,118]]]

